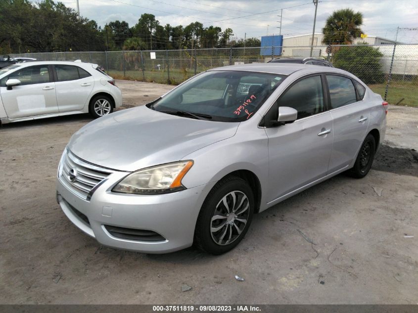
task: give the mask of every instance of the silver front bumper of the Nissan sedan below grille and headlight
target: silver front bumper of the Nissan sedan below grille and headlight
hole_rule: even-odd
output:
[[[215,184],[161,195],[130,195],[111,192],[114,183],[109,177],[87,201],[57,178],[57,201],[70,221],[100,244],[144,253],[167,253],[190,247],[199,210]],[[165,240],[122,239],[110,234],[104,225],[150,230]]]

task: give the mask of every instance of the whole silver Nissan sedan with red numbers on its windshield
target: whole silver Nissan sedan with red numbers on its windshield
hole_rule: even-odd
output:
[[[195,243],[225,253],[253,214],[341,172],[365,177],[387,107],[335,68],[209,70],[74,134],[57,201],[102,245],[165,253]]]

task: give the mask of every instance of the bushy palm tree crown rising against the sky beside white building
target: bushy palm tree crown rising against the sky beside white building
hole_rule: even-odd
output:
[[[326,45],[350,45],[355,38],[360,37],[363,25],[363,14],[355,13],[346,8],[332,12],[326,19],[323,44]]]

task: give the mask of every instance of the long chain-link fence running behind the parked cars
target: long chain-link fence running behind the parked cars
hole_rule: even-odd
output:
[[[96,63],[118,79],[177,85],[207,69],[265,63],[278,56],[326,59],[349,71],[390,104],[418,106],[418,45],[242,47],[157,51],[13,54],[47,61]]]

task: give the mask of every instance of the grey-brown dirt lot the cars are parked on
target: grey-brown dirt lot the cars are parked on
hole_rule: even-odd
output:
[[[124,107],[172,88],[117,83]],[[390,107],[386,141],[365,179],[339,175],[256,215],[243,242],[217,257],[101,247],[64,216],[55,201],[58,160],[90,121],[0,129],[1,304],[417,304],[417,108]],[[182,292],[183,284],[192,289]]]

